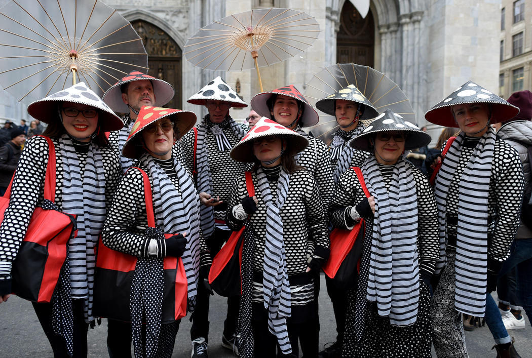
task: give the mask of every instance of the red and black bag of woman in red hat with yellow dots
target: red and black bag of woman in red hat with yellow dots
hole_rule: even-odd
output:
[[[146,215],[148,226],[155,227],[153,214],[152,188],[148,176],[140,168],[144,179],[146,198]],[[164,234],[166,238],[173,234]],[[94,315],[121,321],[131,321],[129,301],[133,273],[137,257],[115,251],[98,242],[96,269],[94,273]],[[188,285],[185,267],[181,257],[164,257],[163,259],[163,311],[162,323],[171,323],[187,314]]]

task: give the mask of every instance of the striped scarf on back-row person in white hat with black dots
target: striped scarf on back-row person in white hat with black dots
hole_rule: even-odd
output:
[[[226,119],[229,123],[228,126],[230,129],[235,133],[238,140],[242,139],[246,132],[238,126],[238,124],[229,116],[229,114],[226,116]],[[205,141],[205,134],[207,132],[207,124],[210,123],[210,116],[207,114],[204,116],[200,126],[197,127],[198,129],[198,138],[197,138],[197,151],[196,151],[196,167],[197,167],[197,189],[198,192],[202,193],[205,192],[210,195],[214,195],[212,192],[212,179],[211,179],[211,171],[209,169],[209,148],[207,148],[207,142]],[[210,126],[209,126],[210,127]],[[227,127],[223,128],[222,130],[226,130]],[[223,135],[224,138],[227,137]],[[229,143],[229,141],[228,141]],[[217,136],[217,144],[218,144],[218,136]],[[218,145],[217,148],[219,151],[220,145]],[[231,146],[223,151],[227,151],[231,149]],[[212,150],[212,148],[211,148]],[[229,180],[230,178],[228,178]],[[202,205],[200,209],[200,217],[201,217],[201,228],[203,231],[203,236],[205,239],[208,239],[212,236],[214,232],[214,209],[212,206],[206,206]]]

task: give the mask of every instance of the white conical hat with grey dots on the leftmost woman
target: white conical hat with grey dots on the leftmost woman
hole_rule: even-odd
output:
[[[28,113],[33,118],[48,124],[53,121],[59,121],[58,106],[62,102],[81,103],[94,107],[98,110],[98,125],[105,132],[119,130],[124,126],[120,117],[114,114],[109,106],[85,82],[79,82],[31,103],[28,106]]]

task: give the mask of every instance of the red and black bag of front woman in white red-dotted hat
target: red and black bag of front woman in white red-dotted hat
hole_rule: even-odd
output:
[[[250,171],[246,171],[246,187],[250,197],[255,196],[255,187]],[[226,244],[212,260],[209,284],[220,296],[242,295],[242,249],[244,247],[243,226],[233,231]]]

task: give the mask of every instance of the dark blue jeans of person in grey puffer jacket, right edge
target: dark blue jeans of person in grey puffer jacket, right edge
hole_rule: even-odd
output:
[[[515,239],[510,246],[510,257],[504,261],[499,275],[516,268],[519,304],[532,319],[532,238]]]

